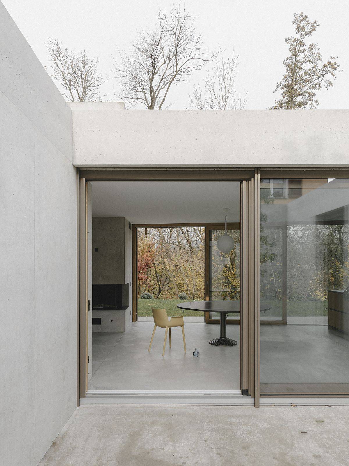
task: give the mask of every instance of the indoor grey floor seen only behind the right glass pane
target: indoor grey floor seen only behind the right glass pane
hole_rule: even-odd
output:
[[[349,391],[349,342],[324,325],[261,326],[261,392]],[[263,384],[268,387],[263,387]],[[275,385],[274,389],[271,385]],[[280,384],[293,384],[286,388]],[[314,384],[314,386],[311,386]],[[322,387],[316,387],[321,384]],[[329,384],[327,387],[324,386]],[[303,387],[302,387],[303,385]]]

